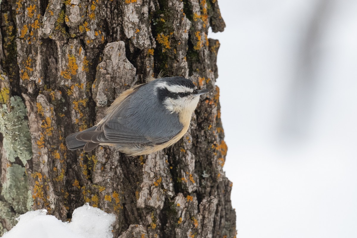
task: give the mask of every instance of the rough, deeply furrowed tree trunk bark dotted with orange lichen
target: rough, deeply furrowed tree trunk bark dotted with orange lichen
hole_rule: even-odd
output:
[[[88,202],[116,215],[114,237],[235,237],[209,27],[225,27],[217,0],[2,0],[1,233],[30,209],[65,221]],[[176,145],[66,150],[67,135],[161,70],[213,88]]]

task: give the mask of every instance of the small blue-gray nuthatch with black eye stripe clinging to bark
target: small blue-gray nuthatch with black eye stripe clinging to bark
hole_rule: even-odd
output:
[[[181,76],[152,79],[122,92],[97,125],[66,137],[69,150],[114,146],[127,156],[154,153],[179,141],[188,130],[200,95]]]

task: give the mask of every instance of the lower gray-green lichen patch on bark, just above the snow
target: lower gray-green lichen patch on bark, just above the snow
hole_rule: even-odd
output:
[[[33,199],[29,190],[29,181],[25,167],[12,164],[6,170],[6,182],[2,184],[1,195],[11,204],[16,213],[23,214],[31,210]]]

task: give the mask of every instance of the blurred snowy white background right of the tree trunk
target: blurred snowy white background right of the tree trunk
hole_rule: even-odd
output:
[[[218,3],[237,238],[357,237],[357,1]]]

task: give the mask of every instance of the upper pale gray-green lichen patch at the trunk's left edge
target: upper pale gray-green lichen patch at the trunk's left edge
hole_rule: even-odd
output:
[[[11,111],[8,112],[7,106],[0,106],[0,133],[4,136],[2,153],[6,153],[10,162],[15,162],[19,157],[25,165],[31,159],[31,138],[29,127],[27,126],[27,111],[25,104],[19,96],[10,98]]]

